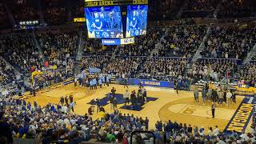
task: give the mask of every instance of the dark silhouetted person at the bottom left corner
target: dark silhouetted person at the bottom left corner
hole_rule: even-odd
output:
[[[7,143],[13,143],[13,135],[10,129],[10,125],[7,122],[4,122],[4,112],[0,111],[0,137],[6,137]]]

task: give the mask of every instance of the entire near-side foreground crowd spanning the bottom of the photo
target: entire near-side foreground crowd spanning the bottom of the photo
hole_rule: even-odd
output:
[[[134,117],[133,114],[121,114],[118,110],[106,113],[101,110],[100,118],[93,120],[90,115],[74,114],[70,106],[48,103],[38,106],[37,102],[15,100],[12,98],[1,99],[0,125],[1,135],[5,142],[13,142],[13,138],[34,138],[38,142],[116,142],[128,143],[131,138],[134,143],[152,143],[151,134],[135,134],[134,130],[150,130],[149,119]],[[74,109],[75,110],[75,109]],[[210,126],[206,130],[203,126],[191,126],[186,123],[158,121],[155,123],[154,133],[157,143],[254,143],[255,128],[250,126],[250,132],[237,133],[230,131],[224,134],[218,126]],[[164,137],[164,135],[166,137]],[[2,140],[2,139],[1,139]]]

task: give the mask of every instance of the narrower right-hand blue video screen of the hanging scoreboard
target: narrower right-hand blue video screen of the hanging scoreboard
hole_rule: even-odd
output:
[[[147,5],[127,6],[126,38],[146,34]]]

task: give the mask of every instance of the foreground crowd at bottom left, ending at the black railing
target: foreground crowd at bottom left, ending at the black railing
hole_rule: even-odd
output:
[[[100,111],[100,118],[93,120],[90,115],[74,114],[70,106],[48,103],[38,106],[36,102],[1,99],[1,122],[7,122],[5,132],[1,132],[8,142],[14,138],[35,138],[42,143],[70,142],[80,143],[94,139],[98,142],[130,141],[130,133],[134,130],[148,130],[149,120],[130,114],[121,114],[115,110],[113,114]],[[1,123],[2,124],[2,123]],[[3,127],[2,127],[3,128]],[[10,130],[11,129],[11,130]],[[145,134],[136,134],[134,142],[152,141]],[[139,137],[139,138],[138,138]],[[152,136],[151,136],[152,137]]]

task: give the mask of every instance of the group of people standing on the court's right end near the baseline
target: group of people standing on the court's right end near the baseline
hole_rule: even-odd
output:
[[[222,106],[222,103],[225,102],[228,106],[230,106],[231,102],[236,103],[236,94],[232,92],[232,90],[227,90],[225,87],[217,86],[212,89],[206,84],[202,88],[202,103],[206,104],[206,99],[212,102],[217,102]],[[199,102],[199,91],[198,88],[194,89],[194,101]]]

